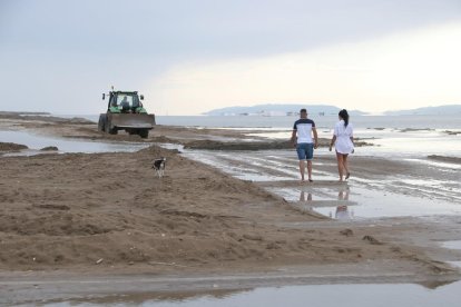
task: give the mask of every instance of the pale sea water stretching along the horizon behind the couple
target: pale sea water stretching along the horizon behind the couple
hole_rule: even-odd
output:
[[[97,115],[82,117],[97,121]],[[311,116],[318,137],[331,138],[336,116]],[[157,125],[195,128],[223,128],[245,131],[248,137],[290,139],[297,117],[290,116],[157,116]],[[354,137],[373,147],[356,150],[357,155],[380,157],[422,157],[440,155],[461,157],[461,115],[438,116],[353,116]],[[457,133],[458,132],[458,133]],[[155,130],[154,130],[155,133]]]

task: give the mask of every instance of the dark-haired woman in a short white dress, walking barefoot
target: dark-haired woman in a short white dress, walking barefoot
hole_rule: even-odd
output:
[[[349,113],[345,109],[339,113],[340,121],[334,127],[334,135],[330,142],[330,151],[333,145],[336,149],[337,171],[340,174],[340,181],[343,181],[343,176],[349,179],[351,172],[347,166],[349,154],[354,152],[354,136],[352,125],[349,122]]]

